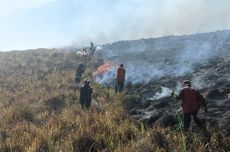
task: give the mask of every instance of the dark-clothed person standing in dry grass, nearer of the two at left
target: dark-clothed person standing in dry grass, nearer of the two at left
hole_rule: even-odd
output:
[[[84,85],[80,88],[80,104],[82,109],[89,109],[92,101],[93,89],[89,85],[89,79],[84,79]]]

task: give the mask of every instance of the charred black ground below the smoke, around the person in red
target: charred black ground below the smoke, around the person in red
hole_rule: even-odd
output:
[[[194,87],[204,95],[208,112],[202,109],[199,117],[207,127],[221,128],[230,132],[230,56],[210,60],[183,76],[165,76],[153,79],[146,84],[135,84],[126,90],[126,94],[138,94],[141,104],[136,104],[127,109],[129,114],[138,121],[148,126],[160,124],[164,127],[178,125],[179,101],[169,95],[158,100],[152,100],[161,87],[175,89],[183,80],[194,82]]]

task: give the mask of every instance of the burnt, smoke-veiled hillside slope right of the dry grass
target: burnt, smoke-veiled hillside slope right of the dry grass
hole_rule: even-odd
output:
[[[176,119],[179,105],[170,92],[178,93],[188,79],[208,102],[209,112],[200,113],[207,126],[230,131],[230,31],[119,41],[103,45],[98,53],[125,65],[126,83],[132,84],[127,93],[138,94],[142,102],[129,109],[135,119],[150,126]],[[165,104],[155,109],[161,102]]]

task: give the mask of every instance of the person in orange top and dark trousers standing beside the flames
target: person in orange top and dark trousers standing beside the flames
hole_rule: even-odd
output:
[[[117,69],[115,92],[120,93],[124,88],[124,84],[125,84],[125,69],[124,69],[124,65],[120,64],[119,68]]]

